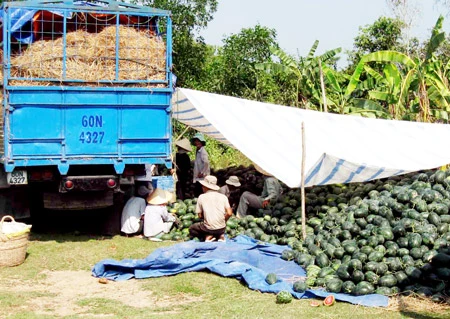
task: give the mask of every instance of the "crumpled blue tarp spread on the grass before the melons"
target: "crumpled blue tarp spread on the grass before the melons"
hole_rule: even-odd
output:
[[[289,291],[294,297],[324,298],[331,293],[323,290],[308,290],[297,293],[292,285],[304,279],[305,270],[294,261],[281,259],[286,246],[259,242],[247,236],[229,239],[226,243],[188,241],[155,250],[145,259],[106,259],[97,263],[92,274],[110,280],[151,278],[176,275],[182,272],[209,270],[224,277],[243,280],[250,289],[278,293]],[[280,279],[269,285],[268,273],[277,274]],[[336,300],[370,307],[387,307],[388,297],[372,294],[350,296],[332,294]]]

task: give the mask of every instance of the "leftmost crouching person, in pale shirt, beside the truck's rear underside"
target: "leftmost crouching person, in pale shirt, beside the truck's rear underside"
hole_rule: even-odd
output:
[[[147,202],[145,198],[151,193],[146,186],[137,189],[136,196],[132,196],[122,210],[120,231],[126,236],[139,236],[144,225],[144,212]]]

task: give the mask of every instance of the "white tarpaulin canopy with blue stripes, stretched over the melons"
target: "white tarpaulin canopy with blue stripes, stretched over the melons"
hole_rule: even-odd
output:
[[[239,149],[289,187],[365,182],[450,163],[450,125],[322,113],[189,89],[173,117]]]

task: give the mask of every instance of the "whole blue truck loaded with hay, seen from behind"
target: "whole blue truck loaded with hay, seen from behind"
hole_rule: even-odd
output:
[[[170,12],[17,1],[1,23],[1,215],[120,207],[146,167],[171,167]]]

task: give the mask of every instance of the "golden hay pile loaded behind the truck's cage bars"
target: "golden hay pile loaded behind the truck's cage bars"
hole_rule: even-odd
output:
[[[116,27],[97,34],[78,30],[66,35],[66,75],[63,76],[63,39],[37,41],[11,58],[11,76],[83,80],[89,85],[116,79]],[[119,26],[119,80],[165,80],[166,48],[158,37]],[[15,81],[13,85],[52,85]],[[53,85],[59,85],[54,83]],[[78,84],[77,84],[78,85]]]

